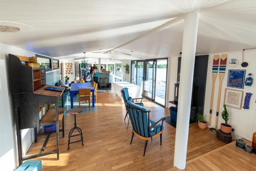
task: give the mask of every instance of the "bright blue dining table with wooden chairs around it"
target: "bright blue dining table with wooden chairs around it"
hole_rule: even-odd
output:
[[[91,92],[93,94],[92,101],[93,101],[93,107],[94,107],[94,88],[91,82],[85,82],[85,83],[72,83],[71,89],[70,89],[70,98],[71,98],[71,109],[74,108],[74,101],[73,97],[76,93],[78,93],[79,89],[91,89]]]

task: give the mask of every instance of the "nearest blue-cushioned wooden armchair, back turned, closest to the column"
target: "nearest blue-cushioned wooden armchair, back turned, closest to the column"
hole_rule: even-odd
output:
[[[150,120],[150,111],[148,111],[143,106],[133,103],[132,100],[127,101],[126,107],[133,126],[130,144],[133,142],[134,134],[140,139],[145,140],[143,153],[143,156],[145,156],[148,140],[153,140],[153,138],[160,135],[160,145],[162,145],[163,121],[165,118],[162,118],[157,122]]]

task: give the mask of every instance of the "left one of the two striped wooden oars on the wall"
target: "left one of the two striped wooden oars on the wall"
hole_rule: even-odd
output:
[[[219,61],[220,61],[220,55],[214,55],[214,62],[212,63],[212,88],[211,88],[210,114],[209,114],[208,125],[211,124],[212,104],[214,103],[215,81],[216,81],[218,70],[219,70]]]

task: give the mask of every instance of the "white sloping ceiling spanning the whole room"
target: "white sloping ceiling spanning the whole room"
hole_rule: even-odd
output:
[[[17,33],[0,33],[0,42],[59,58],[83,57],[82,52],[117,59],[178,56],[183,20],[112,55],[89,52],[103,53],[195,10],[200,12],[197,54],[256,46],[255,0],[0,0],[0,25],[20,28]]]

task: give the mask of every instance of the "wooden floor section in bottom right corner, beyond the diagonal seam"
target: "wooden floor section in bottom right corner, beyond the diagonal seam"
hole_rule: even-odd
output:
[[[251,145],[249,141],[247,144]],[[172,168],[169,171],[180,169]],[[207,154],[191,159],[186,164],[188,171],[195,170],[256,170],[256,155],[246,153],[236,146],[236,141],[215,149]]]

